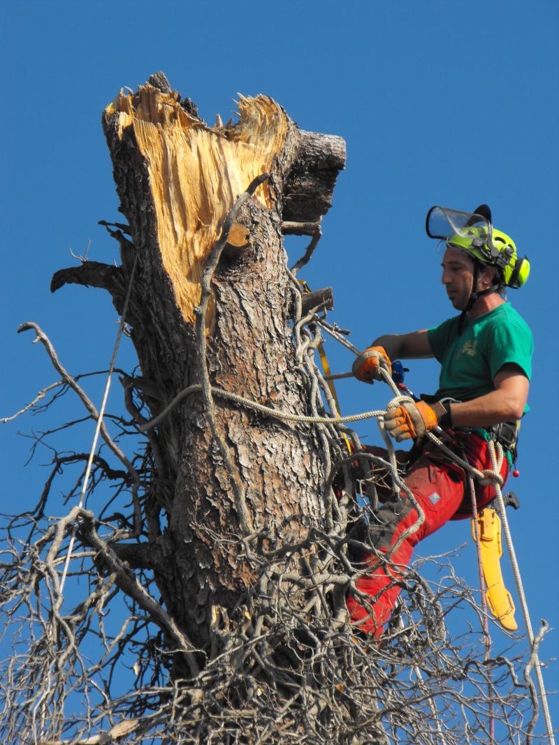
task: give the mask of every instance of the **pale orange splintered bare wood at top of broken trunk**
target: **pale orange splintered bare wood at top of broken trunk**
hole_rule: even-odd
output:
[[[212,128],[190,116],[176,98],[147,83],[136,94],[121,91],[104,115],[107,121],[118,115],[120,139],[133,127],[150,177],[162,264],[183,317],[194,323],[207,256],[239,194],[271,170],[285,142],[288,118],[271,98],[240,96],[239,123]],[[267,184],[255,197],[272,206]],[[213,323],[211,303],[209,331]]]

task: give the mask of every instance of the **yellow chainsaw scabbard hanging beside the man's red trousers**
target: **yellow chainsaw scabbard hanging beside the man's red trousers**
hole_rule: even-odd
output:
[[[476,527],[472,519],[472,533],[476,538]],[[511,593],[505,588],[499,559],[502,557],[501,520],[495,510],[481,510],[478,515],[479,548],[481,565],[487,592],[487,605],[499,624],[508,631],[518,628],[514,620],[514,603]]]

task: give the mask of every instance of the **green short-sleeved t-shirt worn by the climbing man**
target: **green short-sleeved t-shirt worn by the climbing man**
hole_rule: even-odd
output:
[[[489,313],[466,319],[458,336],[456,316],[429,329],[427,337],[440,362],[436,396],[471,401],[495,390],[493,378],[503,365],[514,362],[531,378],[534,340],[528,324],[508,302]],[[528,411],[528,405],[525,408]]]

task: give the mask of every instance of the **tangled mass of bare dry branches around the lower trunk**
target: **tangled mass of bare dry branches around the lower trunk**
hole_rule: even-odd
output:
[[[323,308],[301,317],[294,275],[292,282],[293,340],[309,412],[327,419],[335,409],[315,364]],[[33,405],[48,408],[61,389],[73,390],[95,419],[95,406],[46,335],[27,327],[61,375]],[[165,536],[148,542],[145,524],[151,495],[156,486],[165,493],[165,484],[157,483],[156,440],[139,434],[149,416],[134,380],[122,377],[127,414],[108,417],[116,435],[101,428],[105,444],[86,505],[66,507],[80,490],[86,454],[55,451],[37,506],[5,521],[1,613],[12,654],[0,671],[3,742],[455,745],[487,743],[491,716],[496,741],[531,740],[534,691],[520,673],[516,640],[484,662],[481,624],[458,637],[447,629],[449,613],[475,623],[481,612],[447,557],[408,571],[394,567],[393,581],[405,592],[379,644],[348,624],[345,597],[363,571],[360,557],[372,551],[365,526],[376,489],[382,479],[397,489],[402,482],[394,462],[362,453],[357,435],[337,422],[294,425],[318,431],[329,475],[324,530],[309,528],[303,542],[284,534],[281,544],[274,524],[209,536],[246,561],[257,580],[233,612],[212,607],[208,641],[195,647],[165,609],[150,568],[151,552],[165,551]],[[43,434],[35,437],[37,447],[45,445]],[[57,503],[51,486],[63,474],[66,491]],[[55,519],[57,509],[66,514]],[[136,541],[123,543],[130,535]],[[177,658],[186,676],[173,672]]]

